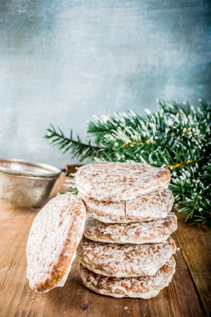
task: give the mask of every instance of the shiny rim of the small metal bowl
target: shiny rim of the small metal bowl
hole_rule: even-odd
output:
[[[15,170],[11,169],[10,167],[4,167],[1,166],[2,163],[17,163],[20,166],[30,166],[31,168],[39,168],[40,170],[43,170],[43,173],[41,172],[32,172],[32,171],[26,171],[26,170]],[[45,172],[44,172],[45,171]],[[49,177],[59,177],[62,170],[48,165],[44,163],[34,162],[34,161],[28,161],[23,159],[4,159],[0,158],[0,173],[6,173],[6,174],[12,174],[12,175],[19,175],[19,176],[27,176],[27,177],[41,177],[41,178],[49,178]]]

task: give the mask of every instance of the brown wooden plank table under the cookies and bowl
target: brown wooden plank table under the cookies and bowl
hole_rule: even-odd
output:
[[[50,197],[64,190],[61,174]],[[0,205],[0,316],[209,316],[211,309],[211,229],[190,226],[178,216],[172,234],[177,243],[176,273],[169,287],[149,300],[113,298],[93,293],[81,282],[77,258],[63,288],[38,294],[26,279],[25,247],[39,209]]]

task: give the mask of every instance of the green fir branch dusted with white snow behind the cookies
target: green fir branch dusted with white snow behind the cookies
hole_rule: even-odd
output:
[[[141,162],[171,170],[170,188],[179,212],[190,223],[211,227],[211,104],[204,100],[194,108],[188,102],[159,100],[160,110],[140,116],[127,113],[94,116],[87,125],[90,139],[64,136],[51,126],[45,138],[80,162]]]

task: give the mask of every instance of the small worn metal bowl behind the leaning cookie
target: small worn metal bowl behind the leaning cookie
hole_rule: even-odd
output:
[[[0,159],[0,202],[40,207],[49,196],[61,170],[19,159]]]

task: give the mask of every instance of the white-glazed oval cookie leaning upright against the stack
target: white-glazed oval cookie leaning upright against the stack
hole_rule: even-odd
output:
[[[63,286],[83,235],[86,211],[79,197],[61,194],[36,215],[27,246],[27,279],[32,290]]]

